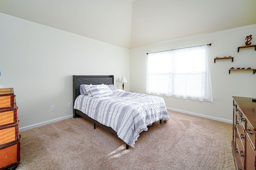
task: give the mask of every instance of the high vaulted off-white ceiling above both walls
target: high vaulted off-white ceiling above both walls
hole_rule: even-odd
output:
[[[255,24],[255,9],[256,0],[0,0],[4,14],[128,49]]]

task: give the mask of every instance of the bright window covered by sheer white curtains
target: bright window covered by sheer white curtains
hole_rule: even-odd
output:
[[[148,54],[147,94],[212,102],[208,45]]]

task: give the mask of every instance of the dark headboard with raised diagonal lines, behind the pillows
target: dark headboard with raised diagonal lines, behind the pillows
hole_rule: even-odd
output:
[[[114,84],[114,76],[76,76],[73,75],[73,106],[80,95],[81,84]]]

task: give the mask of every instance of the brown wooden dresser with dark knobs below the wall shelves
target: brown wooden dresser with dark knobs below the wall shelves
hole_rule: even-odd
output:
[[[237,170],[256,170],[256,102],[233,96],[232,150]]]

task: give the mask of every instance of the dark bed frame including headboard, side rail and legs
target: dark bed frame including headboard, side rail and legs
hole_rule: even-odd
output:
[[[80,85],[81,84],[114,84],[114,76],[76,76],[73,75],[73,106],[77,96],[80,95]],[[73,117],[84,117],[85,119],[94,123],[94,129],[96,129],[96,125],[102,127],[106,131],[112,133],[117,136],[116,131],[114,131],[111,127],[107,127],[102,125],[98,121],[90,118],[88,115],[84,114],[82,111],[77,109],[73,109]],[[160,119],[160,123],[162,123],[162,119]],[[126,149],[129,149],[129,145],[126,144]]]

